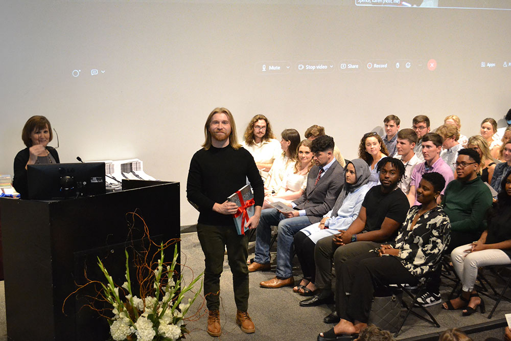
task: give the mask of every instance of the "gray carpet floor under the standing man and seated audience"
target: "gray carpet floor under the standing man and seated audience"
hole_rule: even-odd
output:
[[[183,233],[181,242],[181,260],[185,282],[189,283],[193,276],[198,275],[204,269],[204,255],[200,248],[196,233]],[[254,243],[249,244],[249,252],[253,253]],[[274,250],[273,250],[274,251]],[[272,268],[274,270],[276,254],[272,253]],[[294,264],[295,280],[299,280],[300,269],[297,263]],[[235,323],[236,305],[234,302],[233,282],[227,257],[224,261],[224,272],[220,280],[220,320],[222,324],[222,340],[315,340],[321,331],[327,331],[333,325],[326,325],[322,322],[324,316],[329,314],[333,306],[300,307],[299,301],[303,299],[300,295],[293,293],[290,287],[279,289],[264,289],[259,287],[261,281],[274,277],[273,271],[260,271],[250,274],[250,299],[249,314],[255,324],[255,333],[245,334]],[[443,299],[447,298],[449,288],[442,288]],[[511,303],[503,301],[498,306],[492,320],[487,319],[494,301],[484,298],[486,302],[486,313],[475,313],[471,316],[462,317],[460,311],[446,311],[440,305],[430,307],[430,311],[437,317],[441,328],[434,328],[428,323],[410,316],[403,327],[399,339],[406,339],[414,336],[438,333],[454,327],[467,327],[471,325],[497,321],[504,318],[504,314],[511,312]],[[187,340],[208,340],[213,339],[206,333],[206,309],[202,295],[199,296],[189,313],[196,314],[187,321],[190,334]],[[502,335],[502,328],[493,332],[474,334],[474,340],[484,340],[490,334]],[[493,336],[492,335],[492,336]],[[7,328],[5,316],[5,294],[4,282],[0,282],[0,341],[7,341]]]

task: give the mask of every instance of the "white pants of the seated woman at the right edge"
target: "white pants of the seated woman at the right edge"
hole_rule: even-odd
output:
[[[501,249],[492,248],[476,252],[470,250],[471,244],[456,247],[451,252],[452,265],[461,280],[463,291],[472,291],[477,278],[477,268],[487,265],[511,264],[511,260]]]

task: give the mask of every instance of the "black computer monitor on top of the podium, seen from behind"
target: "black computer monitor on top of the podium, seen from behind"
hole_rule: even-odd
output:
[[[29,199],[105,194],[105,163],[27,165]]]

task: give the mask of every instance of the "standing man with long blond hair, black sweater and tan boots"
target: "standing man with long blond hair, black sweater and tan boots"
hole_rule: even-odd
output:
[[[254,215],[245,226],[259,224],[264,199],[263,180],[252,155],[238,143],[233,115],[226,108],[216,108],[204,125],[205,142],[190,162],[187,198],[199,210],[197,236],[204,252],[204,297],[209,310],[207,333],[220,336],[220,275],[224,247],[233,272],[234,299],[238,312],[236,323],[245,333],[255,331],[247,313],[248,257],[247,235],[238,235],[233,220],[238,206],[227,201],[250,181],[254,196]]]

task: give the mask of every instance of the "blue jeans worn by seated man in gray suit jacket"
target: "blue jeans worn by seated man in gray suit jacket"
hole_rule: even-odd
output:
[[[309,217],[286,218],[276,209],[266,209],[261,212],[261,219],[257,227],[255,240],[254,261],[260,264],[270,262],[271,226],[278,225],[277,229],[277,269],[275,275],[281,278],[293,276],[291,260],[294,254],[294,234],[309,226]]]

